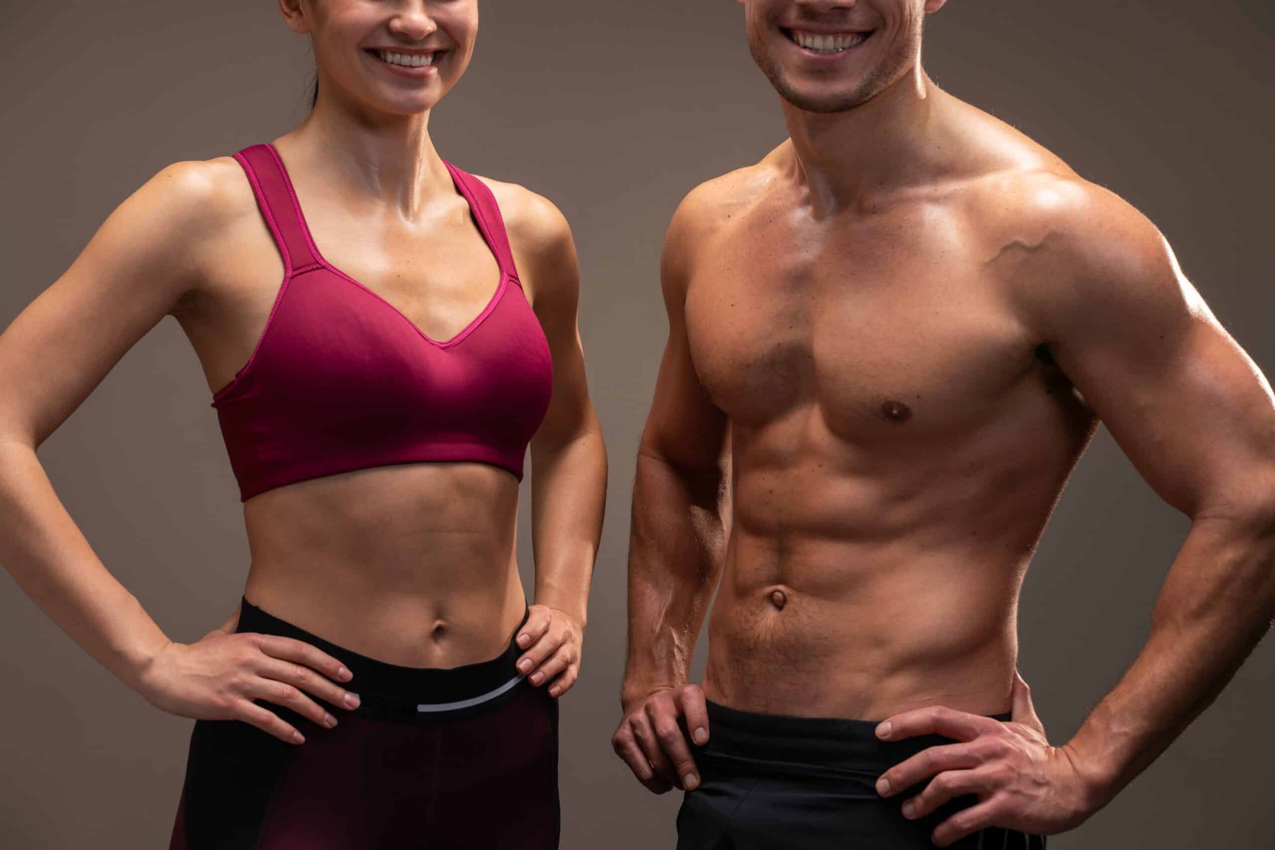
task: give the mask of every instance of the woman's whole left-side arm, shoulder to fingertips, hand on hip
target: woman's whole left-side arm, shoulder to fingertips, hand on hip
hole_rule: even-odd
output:
[[[134,343],[203,283],[196,257],[233,218],[228,198],[208,163],[164,168],[0,335],[0,561],[62,631],[156,707],[242,720],[302,743],[254,700],[334,725],[307,695],[357,705],[332,681],[349,681],[340,661],[293,638],[231,633],[237,612],[195,644],[168,640],[98,559],[36,456]]]

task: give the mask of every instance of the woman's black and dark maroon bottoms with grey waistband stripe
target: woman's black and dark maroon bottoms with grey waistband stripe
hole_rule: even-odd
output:
[[[255,701],[302,744],[241,720],[196,720],[170,850],[558,846],[558,706],[514,668],[518,630],[500,656],[450,669],[352,652],[247,599],[236,631],[314,644],[354,674],[342,684],[361,705],[314,697],[337,717],[328,729]]]

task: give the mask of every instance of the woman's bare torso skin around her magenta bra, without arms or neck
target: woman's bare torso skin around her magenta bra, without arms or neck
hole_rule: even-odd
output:
[[[287,141],[275,147],[329,263],[432,339],[450,339],[483,310],[500,271],[459,194],[404,222],[329,189]],[[222,157],[207,168],[229,214],[200,249],[204,284],[175,316],[212,394],[251,356],[284,269],[238,163]],[[495,187],[504,201],[506,190]],[[394,664],[490,659],[525,605],[516,511],[514,475],[478,463],[398,464],[279,487],[244,503],[251,557],[244,593],[272,614]]]

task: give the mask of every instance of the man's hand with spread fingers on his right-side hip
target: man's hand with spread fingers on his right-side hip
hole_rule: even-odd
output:
[[[935,828],[931,837],[940,847],[989,826],[1053,835],[1079,826],[1095,810],[1075,753],[1049,746],[1028,683],[1017,670],[1007,723],[931,706],[894,715],[877,726],[884,740],[929,734],[961,743],[929,747],[895,765],[877,781],[877,793],[890,796],[933,776],[923,791],[903,804],[909,819],[929,814],[954,796],[977,794],[975,805]]]

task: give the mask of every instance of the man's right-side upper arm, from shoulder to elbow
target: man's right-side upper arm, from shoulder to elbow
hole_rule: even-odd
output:
[[[1275,492],[1275,399],[1159,231],[1131,208],[1054,282],[1049,348],[1139,473],[1190,516]],[[1103,240],[1103,242],[1099,242]]]

